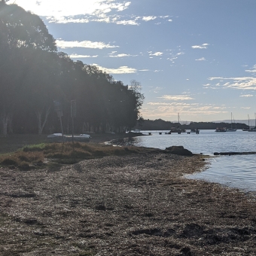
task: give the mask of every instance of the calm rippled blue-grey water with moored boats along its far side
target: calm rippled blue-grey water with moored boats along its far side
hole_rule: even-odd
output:
[[[193,153],[213,155],[214,152],[256,151],[256,133],[237,130],[233,133],[215,133],[215,130],[200,130],[200,134],[164,134],[149,131],[151,136],[133,138],[131,144],[148,148],[164,149],[184,146]],[[160,131],[162,132],[162,131]],[[210,160],[209,168],[187,178],[205,179],[247,191],[256,191],[256,154],[220,156]]]

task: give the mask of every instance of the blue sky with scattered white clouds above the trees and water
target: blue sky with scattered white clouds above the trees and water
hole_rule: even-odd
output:
[[[254,118],[255,0],[11,0],[63,51],[141,84],[144,119]]]

